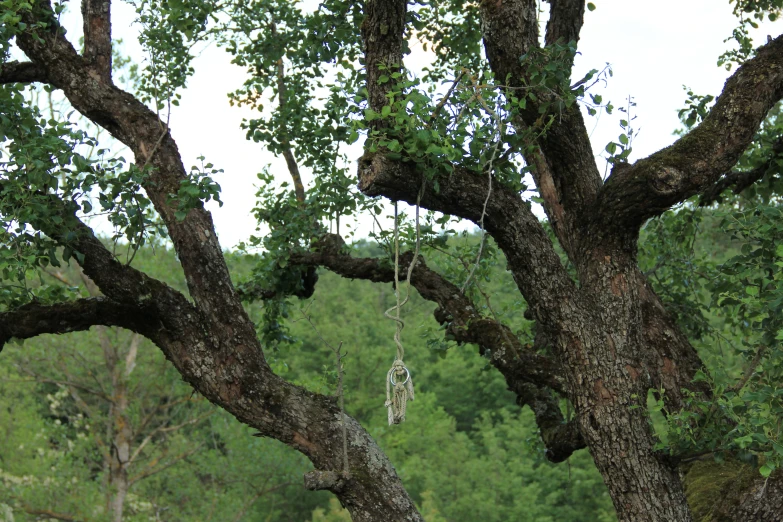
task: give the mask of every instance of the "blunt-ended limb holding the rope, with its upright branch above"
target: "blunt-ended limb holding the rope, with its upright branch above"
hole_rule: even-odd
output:
[[[367,16],[362,24],[366,86],[370,108],[378,113],[387,104],[387,93],[392,88],[391,82],[378,82],[380,71],[384,65],[401,65],[406,4],[405,0],[367,2]],[[482,2],[482,10],[486,9],[488,4],[497,6],[502,16],[516,17],[513,21],[494,20],[489,31],[508,37],[525,37],[529,40],[532,38],[526,45],[534,45],[532,42],[538,33],[533,0]],[[514,6],[511,11],[505,9],[507,4]],[[516,7],[522,11],[514,12]],[[486,18],[484,22],[486,26]],[[518,23],[531,29],[517,34],[513,29],[509,29],[510,22],[512,27]],[[510,42],[511,44],[513,46],[508,51],[502,51],[500,48],[496,50],[505,53],[503,56],[510,57],[519,47],[516,42]],[[490,50],[487,54],[490,54]],[[519,55],[513,57],[516,62],[518,59]],[[377,123],[375,127],[380,129],[385,125],[385,120],[374,123]],[[391,160],[386,157],[384,151],[367,151],[359,160],[359,190],[368,196],[384,196],[393,201],[403,200],[413,204],[418,199],[422,176],[423,173],[417,171],[412,163]],[[543,320],[544,324],[555,324],[555,316],[563,311],[563,305],[573,297],[573,282],[560,263],[560,258],[541,223],[519,194],[497,187],[492,190],[488,199],[487,193],[490,189],[486,180],[459,168],[427,182],[430,186],[424,191],[421,206],[469,219],[474,223],[483,220],[487,232],[495,238],[500,249],[506,254],[509,269],[514,274],[522,295],[534,310],[536,318]],[[436,184],[439,186],[438,190],[433,188]]]

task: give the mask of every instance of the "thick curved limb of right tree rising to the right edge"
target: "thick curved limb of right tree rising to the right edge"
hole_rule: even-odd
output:
[[[760,47],[737,69],[704,121],[652,156],[615,168],[590,224],[594,240],[639,227],[681,201],[712,187],[753,140],[767,112],[783,98],[783,35]]]

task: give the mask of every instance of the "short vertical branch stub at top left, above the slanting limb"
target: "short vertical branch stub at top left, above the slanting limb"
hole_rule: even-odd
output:
[[[84,60],[104,82],[111,83],[111,0],[82,0]]]

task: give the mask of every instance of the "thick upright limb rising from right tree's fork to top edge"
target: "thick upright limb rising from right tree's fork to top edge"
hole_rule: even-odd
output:
[[[583,14],[581,0],[553,1],[547,45],[559,38],[577,40]],[[481,19],[484,48],[495,77],[512,88],[526,86],[528,72],[520,57],[538,46],[535,0],[482,2]],[[551,93],[536,95],[539,102],[552,97]],[[513,122],[520,135],[540,125],[539,102],[528,100],[527,108]],[[544,210],[563,248],[576,263],[584,216],[601,186],[587,128],[576,104],[557,114],[537,146],[530,145],[532,153],[525,159],[534,167],[532,174]]]

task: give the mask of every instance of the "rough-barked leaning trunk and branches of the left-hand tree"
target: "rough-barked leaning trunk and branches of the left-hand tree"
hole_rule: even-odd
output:
[[[49,29],[39,30],[40,39],[21,34],[17,43],[79,112],[127,145],[137,163],[151,167],[144,188],[168,228],[193,302],[119,263],[73,216],[73,210],[63,205],[65,225],[46,233],[84,254],[84,272],[105,298],[48,310],[30,305],[24,311],[3,313],[0,340],[29,337],[35,331],[86,329],[88,317],[92,324],[129,327],[157,344],[183,378],[210,401],[265,436],[301,451],[317,469],[341,469],[342,415],[335,400],[291,385],[269,369],[255,327],[229,278],[209,212],[199,207],[183,221],[174,217],[176,204],[169,202],[168,195],[177,193],[186,176],[176,143],[155,113],[112,85],[105,74],[101,42],[110,41],[109,15],[104,9],[108,2],[85,2],[84,6],[85,23],[89,21],[93,31],[92,54],[82,57],[74,50],[57,30],[45,0],[26,14],[26,22],[32,26],[42,19],[50,24]],[[68,240],[67,230],[76,233],[75,240]],[[47,320],[52,311],[62,313],[64,320]],[[14,318],[22,316],[36,317],[40,326],[24,329],[14,324]],[[353,519],[421,520],[391,463],[367,432],[348,418],[347,433],[350,474],[335,493]]]

